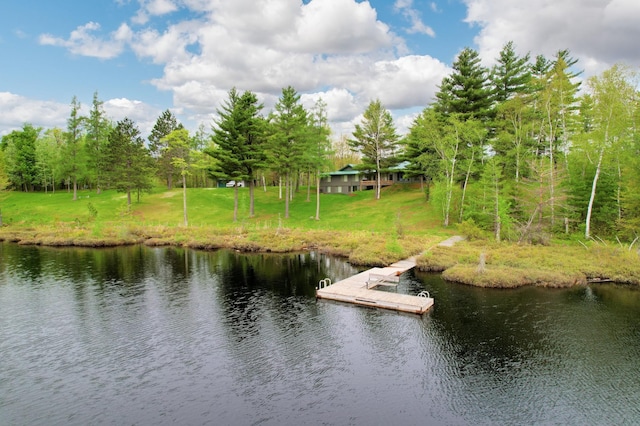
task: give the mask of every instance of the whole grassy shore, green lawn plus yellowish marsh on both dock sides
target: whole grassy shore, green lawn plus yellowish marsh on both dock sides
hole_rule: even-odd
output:
[[[196,249],[292,252],[317,250],[358,265],[388,265],[421,254],[418,268],[443,272],[445,279],[483,287],[550,287],[616,281],[640,285],[635,250],[602,242],[555,241],[550,246],[464,241],[437,244],[454,235],[419,188],[385,188],[373,192],[321,195],[320,220],[315,197],[305,189],[290,203],[278,189],[256,190],[255,216],[248,217],[249,192],[239,190],[239,220],[233,221],[234,189],[188,190],[189,226],[182,223],[182,191],[156,189],[132,210],[115,191],[101,194],[5,192],[0,195],[0,239],[19,244],[102,247],[125,244],[176,245]],[[484,258],[484,267],[479,267]]]

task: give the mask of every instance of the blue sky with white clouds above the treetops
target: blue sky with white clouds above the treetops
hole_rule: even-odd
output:
[[[491,66],[569,49],[581,78],[640,66],[638,0],[12,0],[0,5],[0,135],[66,127],[94,93],[148,136],[170,109],[206,131],[235,87],[272,110],[294,87],[350,137],[380,99],[400,134],[465,47]]]

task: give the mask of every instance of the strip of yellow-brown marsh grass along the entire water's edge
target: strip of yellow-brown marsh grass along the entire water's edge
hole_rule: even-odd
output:
[[[594,244],[531,246],[488,241],[441,245],[438,236],[391,237],[387,234],[302,229],[181,228],[117,226],[104,235],[88,230],[0,228],[0,241],[50,247],[105,248],[142,244],[195,250],[290,253],[316,250],[358,266],[385,266],[416,256],[422,272],[442,273],[445,280],[484,288],[540,286],[566,288],[614,282],[640,287],[640,256],[622,247]],[[86,231],[86,232],[81,232]],[[390,243],[391,240],[391,243]],[[483,260],[484,259],[484,260]]]

